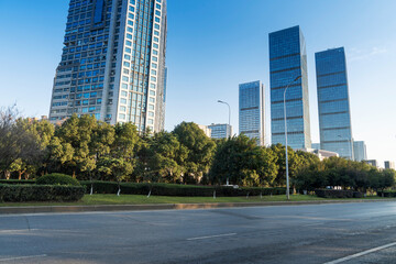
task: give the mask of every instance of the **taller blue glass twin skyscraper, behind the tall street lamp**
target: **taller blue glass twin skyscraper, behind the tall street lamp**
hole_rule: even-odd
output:
[[[272,143],[285,144],[284,91],[287,140],[293,148],[310,148],[307,53],[299,26],[270,33]],[[294,81],[296,77],[300,79]]]

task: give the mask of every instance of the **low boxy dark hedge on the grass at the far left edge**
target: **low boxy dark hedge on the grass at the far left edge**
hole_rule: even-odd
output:
[[[0,185],[0,201],[77,201],[85,187],[62,185]]]

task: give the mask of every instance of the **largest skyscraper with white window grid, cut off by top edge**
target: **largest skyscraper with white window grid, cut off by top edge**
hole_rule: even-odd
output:
[[[166,0],[70,0],[50,120],[164,128]]]

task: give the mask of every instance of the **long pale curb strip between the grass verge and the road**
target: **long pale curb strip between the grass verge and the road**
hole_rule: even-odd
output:
[[[308,206],[354,202],[386,202],[384,200],[317,200],[317,201],[263,201],[263,202],[206,202],[206,204],[154,204],[154,205],[98,205],[98,206],[43,206],[43,207],[0,207],[0,215],[45,213],[45,212],[106,212],[106,211],[147,211],[147,210],[194,210],[235,207]]]

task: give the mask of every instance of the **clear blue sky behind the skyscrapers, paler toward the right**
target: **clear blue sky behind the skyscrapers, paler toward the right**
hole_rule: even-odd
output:
[[[67,8],[68,0],[0,0],[0,106],[48,113]],[[369,158],[396,161],[395,10],[394,0],[168,0],[166,130],[182,121],[227,122],[221,99],[238,132],[238,85],[262,80],[268,88],[268,33],[300,25],[312,142],[319,142],[315,53],[344,46],[353,138],[366,142]],[[268,120],[267,111],[267,136]]]

